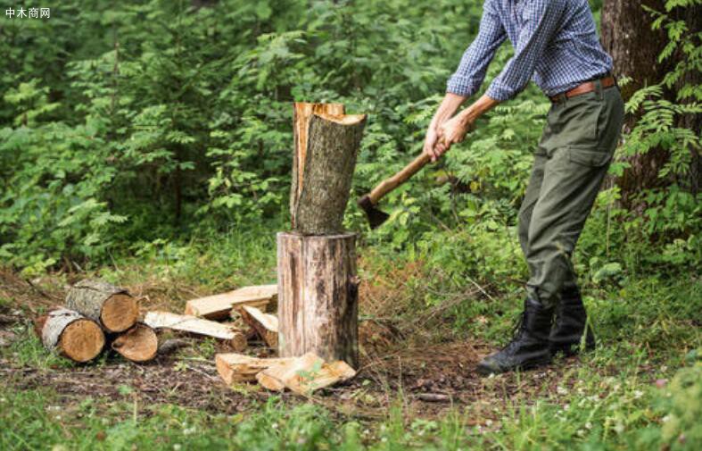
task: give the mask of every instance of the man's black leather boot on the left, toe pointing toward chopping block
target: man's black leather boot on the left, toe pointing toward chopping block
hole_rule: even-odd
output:
[[[540,302],[527,298],[512,341],[500,352],[488,355],[478,363],[477,372],[482,375],[499,374],[549,363],[549,332],[553,312],[553,308],[544,308]]]

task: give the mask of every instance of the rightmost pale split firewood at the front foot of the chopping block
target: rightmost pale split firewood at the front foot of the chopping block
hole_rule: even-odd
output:
[[[295,393],[307,395],[319,388],[350,380],[355,375],[356,371],[348,363],[341,360],[326,363],[318,355],[307,353],[294,358],[293,363],[269,367],[257,374],[256,380],[269,390],[289,388]]]

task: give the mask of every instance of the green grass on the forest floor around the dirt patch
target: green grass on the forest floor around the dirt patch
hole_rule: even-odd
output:
[[[272,235],[260,230],[214,244],[142,244],[133,259],[97,273],[137,284],[150,302],[178,308],[193,293],[271,280],[273,246]],[[499,346],[508,338],[519,308],[518,283],[495,287],[470,269],[438,271],[442,263],[421,253],[400,261],[370,249],[363,255],[361,272],[374,282],[365,296],[391,309],[373,314],[390,312],[402,327],[417,317],[418,308],[441,306],[436,299],[442,293],[450,307],[405,331],[429,329],[439,345],[485,338]],[[471,280],[460,283],[461,276]],[[477,380],[467,402],[419,405],[419,412],[409,387],[388,383],[388,402],[373,417],[336,408],[343,402],[334,392],[310,401],[263,400],[244,389],[242,396],[252,404],[235,414],[149,403],[129,381],[111,396],[72,396],[55,389],[51,375],[91,366],[46,354],[29,322],[16,323],[10,331],[17,338],[0,347],[0,369],[9,374],[0,380],[0,449],[699,449],[701,291],[693,272],[590,282],[585,302],[599,338],[594,352],[575,361],[557,358],[552,365],[557,371],[549,376],[525,372]],[[16,304],[12,296],[4,298],[4,308]],[[200,342],[195,360],[211,360],[215,347]],[[185,374],[191,362],[178,357],[175,371]],[[94,363],[111,364],[105,358]],[[22,388],[18,369],[45,374],[49,382]],[[351,402],[369,396],[364,387],[351,393]]]

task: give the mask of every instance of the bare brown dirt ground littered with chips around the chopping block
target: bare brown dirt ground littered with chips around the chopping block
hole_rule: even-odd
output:
[[[61,303],[65,287],[53,280],[40,282],[0,271],[0,298],[11,299],[9,305],[0,305],[0,347],[10,347],[12,340],[18,339],[12,332],[18,323],[29,327],[33,318]],[[174,312],[181,311],[182,305],[167,301],[172,296],[169,290],[177,288],[157,284],[129,288],[143,296],[145,310],[169,307]],[[187,291],[179,293],[180,298],[193,296]],[[367,288],[361,291],[361,304],[380,304],[386,295],[382,288]],[[422,338],[410,339],[407,334],[407,330],[401,331],[389,322],[361,322],[361,368],[357,377],[345,385],[320,390],[308,400],[337,413],[368,419],[384,417],[397,403],[404,404],[406,413],[418,417],[432,417],[463,405],[470,406],[472,413],[481,413],[476,418],[484,422],[494,415],[496,405],[555,391],[557,385],[569,385],[564,379],[569,377],[568,369],[577,364],[577,358],[567,359],[549,369],[530,372],[529,378],[481,378],[474,371],[475,363],[494,350],[481,340],[427,340],[422,344]],[[143,364],[108,355],[98,363],[72,368],[32,368],[12,363],[3,353],[0,373],[14,389],[54,388],[67,404],[85,397],[123,399],[123,389],[128,386],[141,404],[169,403],[211,413],[241,413],[271,396],[253,384],[229,388],[219,379],[212,354],[227,352],[226,347],[216,345],[219,348],[203,352],[202,339],[179,339],[186,347]],[[269,355],[271,351],[254,345],[247,352]],[[291,403],[306,401],[292,394],[283,397]]]

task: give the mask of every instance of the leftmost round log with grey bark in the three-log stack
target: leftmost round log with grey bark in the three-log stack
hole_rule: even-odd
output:
[[[46,349],[75,362],[93,360],[105,344],[103,330],[97,322],[65,308],[39,318],[35,330]]]

